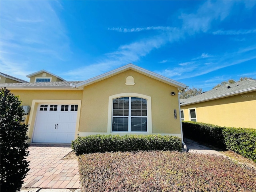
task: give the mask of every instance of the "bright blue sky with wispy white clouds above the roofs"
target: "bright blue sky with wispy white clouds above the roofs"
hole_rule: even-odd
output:
[[[1,1],[0,70],[87,80],[132,63],[210,90],[256,79],[256,1]]]

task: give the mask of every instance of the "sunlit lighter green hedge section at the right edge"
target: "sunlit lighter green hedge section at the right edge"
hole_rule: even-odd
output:
[[[227,149],[256,162],[256,129],[229,127],[223,135]]]

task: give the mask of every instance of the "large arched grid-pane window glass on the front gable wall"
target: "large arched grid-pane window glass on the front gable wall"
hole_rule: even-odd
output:
[[[147,100],[139,97],[113,99],[112,131],[147,132]]]

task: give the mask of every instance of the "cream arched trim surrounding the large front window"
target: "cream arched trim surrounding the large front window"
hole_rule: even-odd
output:
[[[112,131],[112,112],[113,112],[113,99],[120,98],[120,97],[139,97],[147,100],[147,131],[136,131],[136,132],[129,132],[129,126],[128,125],[128,132],[127,131]],[[129,98],[130,99],[130,98]],[[130,102],[129,102],[130,105]],[[121,117],[121,116],[120,116]],[[144,116],[141,116],[144,117]],[[129,117],[130,118],[130,117]],[[108,97],[108,134],[152,134],[152,112],[151,112],[151,97],[143,94],[138,93],[121,93],[116,94]]]

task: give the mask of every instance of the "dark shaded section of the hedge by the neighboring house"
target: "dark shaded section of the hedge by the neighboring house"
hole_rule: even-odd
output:
[[[204,142],[217,148],[226,148],[223,136],[224,127],[207,123],[182,121],[182,128],[183,136],[186,138]]]

